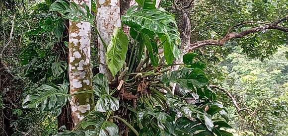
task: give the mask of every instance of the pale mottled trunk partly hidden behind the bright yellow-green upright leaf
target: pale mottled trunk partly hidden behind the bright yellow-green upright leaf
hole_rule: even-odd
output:
[[[115,27],[121,27],[120,20],[120,0],[98,0],[97,1],[97,29],[100,33],[101,38],[108,45],[110,38],[113,34]],[[114,77],[109,71],[105,53],[106,49],[103,43],[98,37],[99,45],[99,72],[107,76],[108,80],[113,82]]]

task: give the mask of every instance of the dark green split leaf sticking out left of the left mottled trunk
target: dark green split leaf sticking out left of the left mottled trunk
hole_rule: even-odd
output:
[[[55,115],[58,116],[61,108],[71,100],[71,95],[67,94],[69,88],[65,84],[58,84],[55,87],[44,84],[37,90],[40,91],[39,94],[26,96],[22,103],[23,108],[41,107],[41,111],[56,112]]]

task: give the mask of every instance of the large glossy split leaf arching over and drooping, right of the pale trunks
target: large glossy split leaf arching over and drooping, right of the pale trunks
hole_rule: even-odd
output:
[[[135,9],[135,7],[133,7]],[[177,24],[172,15],[158,9],[129,10],[122,16],[124,24],[139,31],[147,30],[149,37],[158,37],[164,47],[165,60],[168,64],[173,63],[174,58],[178,58],[180,51],[180,33],[177,31]]]

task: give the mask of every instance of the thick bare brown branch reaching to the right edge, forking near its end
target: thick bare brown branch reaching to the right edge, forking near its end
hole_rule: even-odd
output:
[[[233,38],[241,38],[244,37],[248,34],[251,33],[255,33],[255,32],[259,32],[259,31],[263,31],[263,30],[268,30],[268,29],[276,29],[276,30],[280,30],[283,32],[288,32],[288,28],[287,27],[283,27],[283,26],[279,26],[278,24],[287,20],[288,19],[288,15],[276,20],[272,23],[264,23],[264,22],[254,22],[254,21],[246,21],[246,22],[242,22],[240,24],[237,24],[235,26],[232,26],[231,28],[228,29],[228,33],[221,39],[215,40],[215,39],[209,39],[209,40],[203,40],[203,41],[198,41],[196,43],[190,44],[188,51],[192,51],[196,48],[202,47],[202,46],[207,46],[207,45],[218,45],[218,46],[223,46],[228,40],[233,39]],[[243,25],[243,24],[248,24],[248,23],[258,23],[258,24],[265,24],[263,26],[259,26],[259,27],[254,27],[248,30],[245,30],[243,32],[230,32],[230,30],[234,27]],[[230,33],[229,33],[230,32]]]

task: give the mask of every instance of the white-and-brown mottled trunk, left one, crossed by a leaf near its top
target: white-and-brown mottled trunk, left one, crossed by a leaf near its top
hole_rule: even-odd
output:
[[[91,6],[90,0],[72,0],[76,4]],[[74,22],[69,25],[69,79],[70,102],[74,125],[94,109],[92,72],[90,66],[90,23]]]

